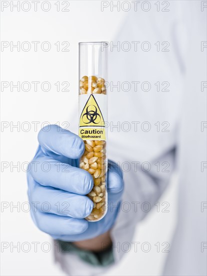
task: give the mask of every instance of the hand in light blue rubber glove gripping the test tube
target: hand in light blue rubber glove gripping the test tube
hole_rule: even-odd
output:
[[[78,168],[84,152],[79,136],[57,125],[42,128],[39,147],[27,173],[31,217],[36,226],[54,239],[79,241],[109,230],[118,214],[123,180],[120,169],[108,162],[108,211],[103,219],[88,222],[93,208],[85,196],[93,187],[91,175]],[[115,165],[115,166],[114,166]]]

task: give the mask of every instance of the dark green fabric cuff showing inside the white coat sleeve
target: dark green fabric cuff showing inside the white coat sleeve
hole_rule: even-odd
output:
[[[75,253],[83,261],[94,266],[108,266],[114,263],[112,245],[100,252],[80,249],[72,242],[58,240],[62,252]]]

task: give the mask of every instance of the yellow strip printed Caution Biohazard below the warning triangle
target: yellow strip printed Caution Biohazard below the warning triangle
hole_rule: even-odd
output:
[[[82,140],[105,140],[105,128],[79,128],[79,137]]]

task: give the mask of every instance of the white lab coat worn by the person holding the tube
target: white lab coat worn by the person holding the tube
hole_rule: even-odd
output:
[[[169,9],[170,12],[130,12],[113,43],[140,41],[137,51],[111,52],[109,48],[109,81],[113,84],[148,81],[153,87],[148,92],[142,91],[140,84],[138,91],[132,85],[129,91],[108,89],[110,126],[120,122],[119,132],[115,127],[108,129],[108,154],[110,159],[132,166],[123,173],[123,202],[149,202],[152,206],[177,167],[177,227],[163,275],[201,276],[206,275],[207,251],[201,250],[207,240],[206,209],[201,212],[201,202],[207,201],[207,169],[201,169],[206,166],[201,163],[206,162],[206,128],[201,131],[201,122],[206,121],[206,88],[201,91],[201,81],[206,81],[206,48],[201,51],[201,41],[206,41],[207,9],[201,12],[200,1],[170,1]],[[144,41],[151,45],[148,52],[140,49]],[[161,43],[168,41],[169,52],[157,51],[154,45],[157,41],[160,49],[166,46]],[[154,86],[157,81],[168,81],[170,91],[157,92]],[[134,121],[140,122],[137,131]],[[160,131],[154,125],[157,121]],[[122,124],[121,128],[122,122],[130,122],[131,129],[124,131],[128,124]],[[149,122],[150,131],[141,130],[143,122]],[[162,122],[168,123],[161,125]],[[142,124],[142,128],[146,130],[149,124]],[[168,132],[161,131],[165,126]],[[157,172],[155,166],[149,172],[138,166],[136,171],[131,162],[168,162],[169,172]],[[134,212],[134,208],[120,211],[111,234],[114,244],[131,242],[135,225],[145,214],[140,210]],[[114,265],[118,265],[123,254],[114,250]],[[92,267],[69,253],[56,252],[55,258],[71,275],[93,275],[107,269]],[[138,269],[135,264],[134,269]]]

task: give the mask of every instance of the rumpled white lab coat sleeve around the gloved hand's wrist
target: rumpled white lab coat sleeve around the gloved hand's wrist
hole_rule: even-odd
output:
[[[159,159],[173,166],[174,150]],[[118,217],[111,229],[112,251],[114,263],[103,266],[93,266],[83,260],[74,252],[63,252],[54,246],[55,261],[67,275],[98,275],[116,265],[124,255],[124,244],[132,245],[132,238],[137,221],[140,221],[152,208],[168,183],[169,173],[159,178],[154,173],[143,172],[137,168],[133,173],[124,174],[125,189],[120,205]],[[144,207],[145,206],[145,207]],[[113,206],[109,206],[113,208]],[[56,241],[55,241],[56,242]],[[57,250],[57,248],[59,250]]]

